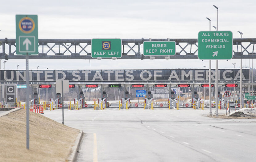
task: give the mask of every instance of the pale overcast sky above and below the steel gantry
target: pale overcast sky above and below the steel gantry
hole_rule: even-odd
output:
[[[197,38],[198,32],[216,26],[219,8],[219,30],[230,30],[233,38],[256,38],[255,1],[215,0],[129,0],[129,1],[5,1],[1,3],[0,38],[15,38],[15,15],[38,15],[39,39],[91,38]],[[214,30],[212,27],[211,30]],[[7,46],[6,46],[7,48]],[[2,47],[0,47],[2,51]],[[8,48],[7,48],[8,49]],[[141,53],[142,50],[141,50]],[[3,62],[1,60],[1,69]],[[30,60],[36,69],[176,69],[209,68],[204,60]],[[254,61],[255,62],[255,61]],[[219,68],[233,68],[240,60],[219,61]],[[5,69],[25,69],[25,60],[8,60]],[[249,60],[243,61],[249,67]],[[254,63],[254,68],[256,63]],[[212,61],[215,68],[215,61]]]

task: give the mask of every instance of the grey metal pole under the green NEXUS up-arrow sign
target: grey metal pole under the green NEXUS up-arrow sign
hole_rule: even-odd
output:
[[[27,100],[27,110],[26,110],[26,125],[27,125],[27,149],[29,150],[29,76],[28,76],[28,53],[26,55],[26,84],[27,84],[27,88],[26,88],[26,100]]]

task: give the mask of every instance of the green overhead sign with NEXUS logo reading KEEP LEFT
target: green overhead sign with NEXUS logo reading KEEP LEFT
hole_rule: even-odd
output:
[[[122,57],[121,39],[92,39],[92,58]]]

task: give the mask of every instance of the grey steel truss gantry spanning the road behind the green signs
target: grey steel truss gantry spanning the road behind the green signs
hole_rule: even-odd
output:
[[[122,57],[119,59],[150,59],[141,54],[141,45],[150,39],[122,39]],[[170,59],[198,59],[197,39],[151,39],[151,41],[175,41],[176,55]],[[255,59],[256,38],[234,38],[233,59]],[[25,59],[25,55],[16,55],[15,39],[0,39],[0,59]],[[6,48],[7,47],[7,48]],[[238,51],[242,48],[242,52]],[[39,39],[39,55],[29,59],[93,59],[91,57],[91,39]],[[166,59],[155,56],[155,59]],[[111,58],[102,58],[111,59]]]

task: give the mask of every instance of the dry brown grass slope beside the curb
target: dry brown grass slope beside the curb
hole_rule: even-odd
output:
[[[0,161],[67,161],[79,130],[30,112],[26,149],[26,111],[0,117]]]

